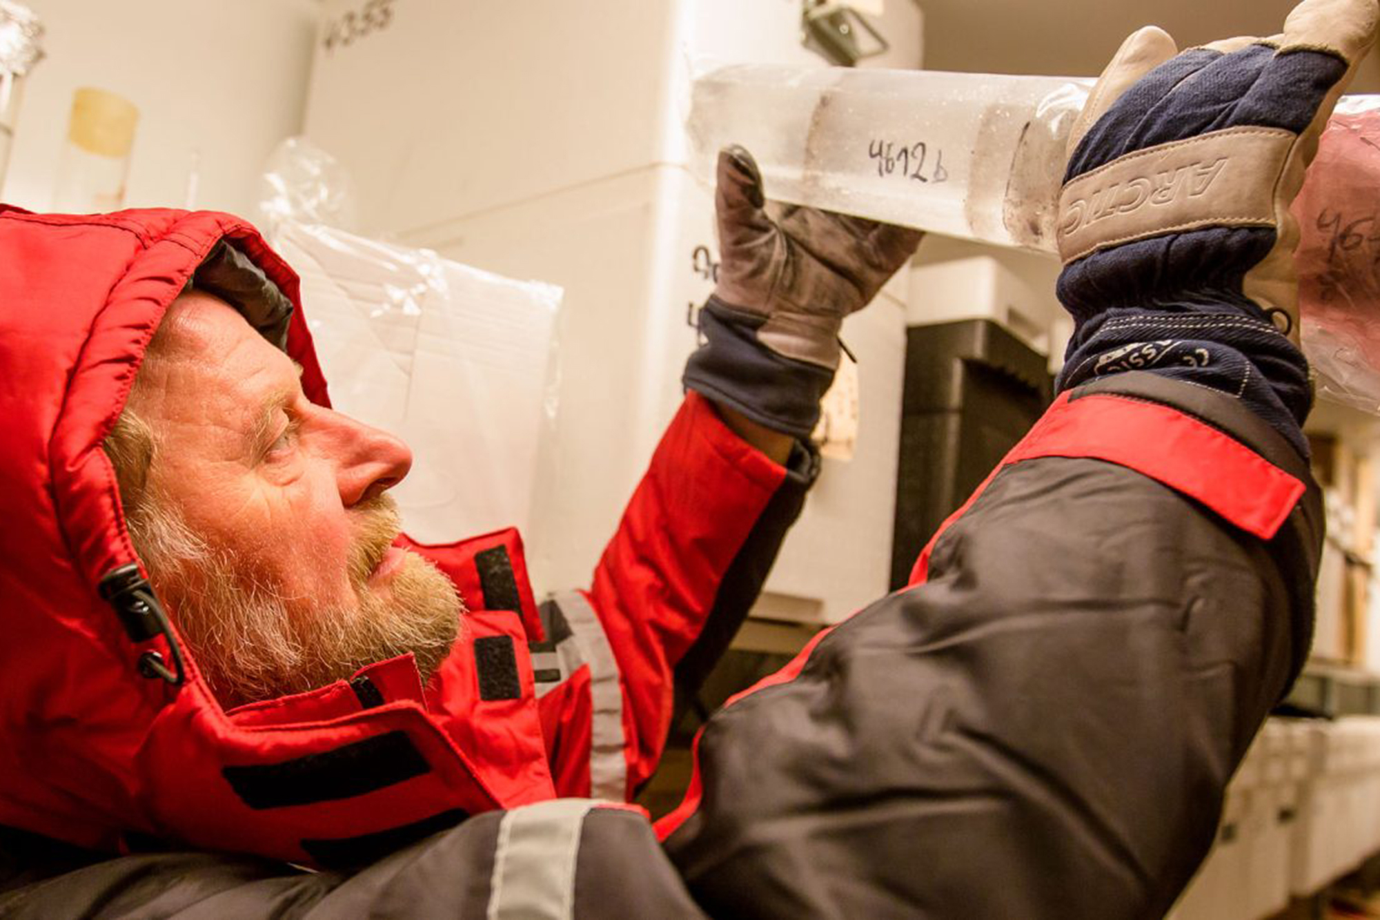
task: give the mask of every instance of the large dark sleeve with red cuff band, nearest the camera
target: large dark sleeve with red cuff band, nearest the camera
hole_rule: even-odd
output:
[[[667,852],[711,916],[1163,916],[1307,652],[1318,512],[1231,396],[1065,394],[909,590],[709,718]]]

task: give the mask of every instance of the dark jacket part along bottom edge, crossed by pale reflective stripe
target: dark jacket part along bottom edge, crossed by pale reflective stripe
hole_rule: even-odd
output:
[[[206,852],[84,854],[44,863],[39,854],[59,844],[26,837],[11,848],[0,834],[0,863],[28,870],[22,880],[0,874],[0,913],[15,920],[704,920],[642,814],[581,800],[475,815],[353,873]]]

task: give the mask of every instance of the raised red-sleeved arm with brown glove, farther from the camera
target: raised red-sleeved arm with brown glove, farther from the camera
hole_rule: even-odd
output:
[[[809,443],[865,307],[916,231],[769,206],[756,163],[719,156],[722,267],[700,312],[705,344],[595,572],[558,598],[570,680],[541,696],[556,789],[621,798],[650,776],[676,693],[698,691],[756,600],[818,470]],[[569,659],[569,660],[567,660]],[[538,688],[541,692],[541,688]]]

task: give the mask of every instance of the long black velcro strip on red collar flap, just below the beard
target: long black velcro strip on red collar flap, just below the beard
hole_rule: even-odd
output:
[[[283,808],[363,796],[429,769],[399,731],[279,764],[222,767],[221,775],[250,808]]]

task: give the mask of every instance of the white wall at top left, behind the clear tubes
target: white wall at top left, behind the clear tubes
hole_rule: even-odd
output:
[[[43,21],[25,84],[6,202],[47,210],[72,93],[94,86],[139,108],[128,207],[186,206],[253,218],[273,146],[301,130],[316,39],[313,0],[23,0]]]

